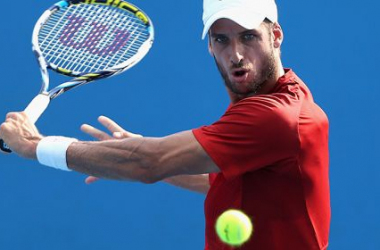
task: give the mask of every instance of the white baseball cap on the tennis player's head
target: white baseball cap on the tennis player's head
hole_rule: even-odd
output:
[[[255,29],[268,18],[277,22],[275,0],[203,0],[203,33],[218,19],[227,18],[246,29]]]

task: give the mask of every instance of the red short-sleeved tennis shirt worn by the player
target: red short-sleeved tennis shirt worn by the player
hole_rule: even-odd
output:
[[[207,250],[232,249],[216,235],[217,217],[244,211],[254,233],[244,250],[326,249],[330,226],[328,119],[287,69],[272,93],[231,105],[193,133],[220,168],[205,201]]]

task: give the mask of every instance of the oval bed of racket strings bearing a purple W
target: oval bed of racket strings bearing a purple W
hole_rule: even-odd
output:
[[[46,60],[76,72],[101,71],[124,62],[148,38],[145,25],[133,14],[95,4],[56,11],[39,33]]]

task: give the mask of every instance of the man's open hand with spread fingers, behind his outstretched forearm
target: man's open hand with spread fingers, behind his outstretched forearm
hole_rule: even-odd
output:
[[[107,132],[99,130],[88,124],[83,124],[81,126],[82,132],[89,134],[90,136],[98,139],[99,141],[125,139],[125,138],[131,138],[131,137],[142,137],[141,135],[134,134],[134,133],[124,130],[116,122],[114,122],[108,117],[100,116],[98,118],[98,121],[105,128],[107,128],[107,130],[111,133],[111,135],[108,134]],[[99,180],[99,178],[94,177],[94,176],[89,176],[86,178],[85,182],[86,184],[91,184],[97,180]]]

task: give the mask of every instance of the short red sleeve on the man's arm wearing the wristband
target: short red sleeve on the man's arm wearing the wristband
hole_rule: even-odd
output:
[[[193,133],[229,179],[294,157],[299,149],[298,115],[296,100],[246,98],[219,121]]]

